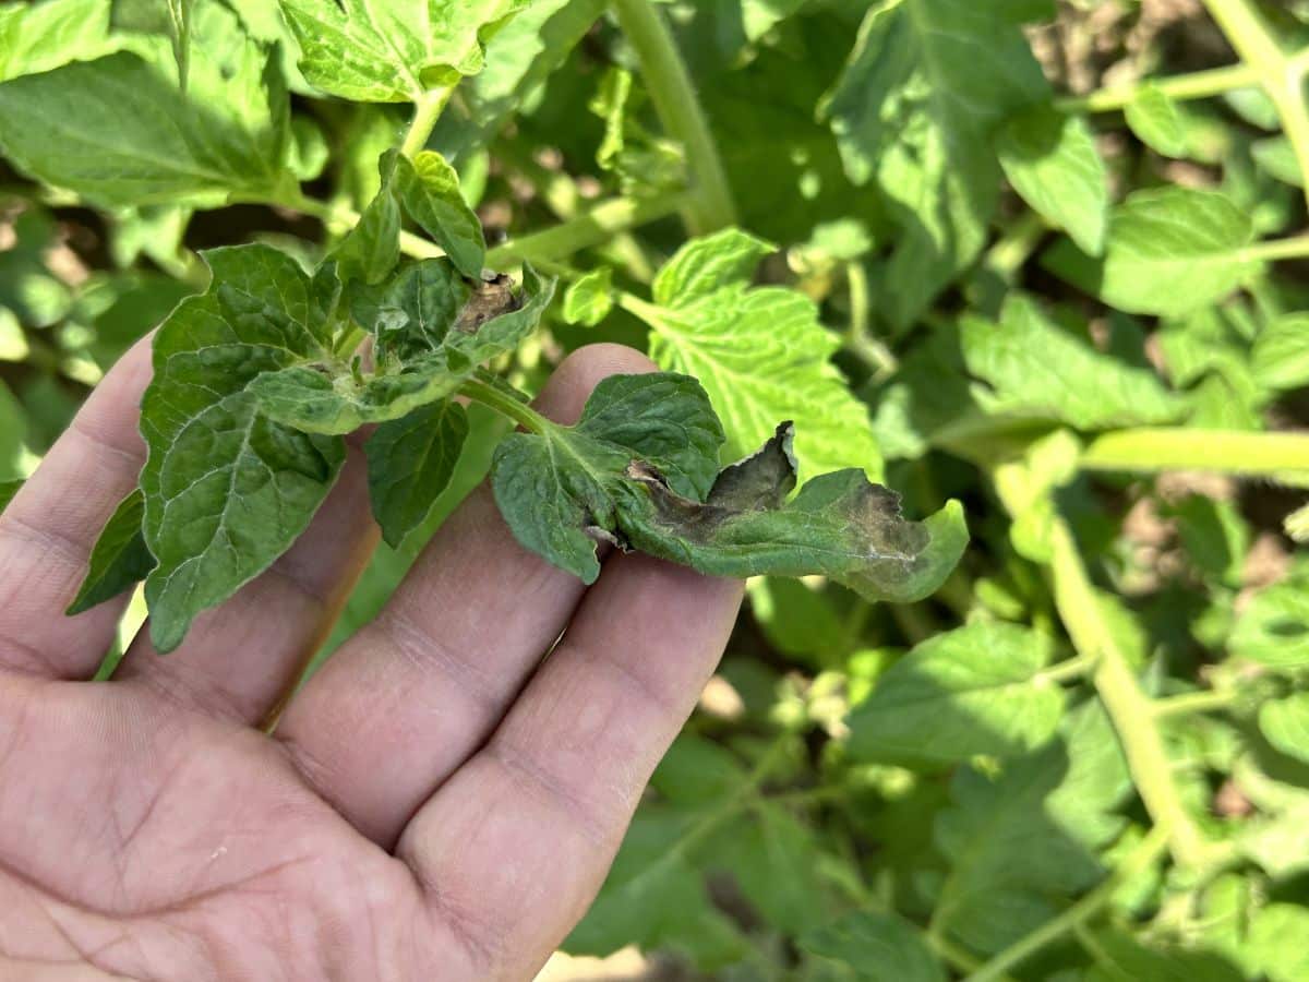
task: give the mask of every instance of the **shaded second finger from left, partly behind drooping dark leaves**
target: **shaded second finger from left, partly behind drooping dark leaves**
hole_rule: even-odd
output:
[[[198,617],[168,657],[143,627],[114,680],[220,719],[257,724],[275,716],[377,546],[361,445],[355,437],[347,443],[336,486],[281,558]]]

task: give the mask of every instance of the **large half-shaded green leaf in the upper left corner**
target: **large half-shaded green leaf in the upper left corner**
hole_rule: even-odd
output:
[[[128,52],[0,85],[5,155],[110,208],[272,195],[289,128],[280,75],[234,14],[217,4],[199,13],[185,93],[170,55]]]

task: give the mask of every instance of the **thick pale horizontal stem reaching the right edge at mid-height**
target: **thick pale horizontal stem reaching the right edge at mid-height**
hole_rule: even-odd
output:
[[[1105,433],[1081,454],[1086,470],[1309,471],[1309,433],[1141,427]]]

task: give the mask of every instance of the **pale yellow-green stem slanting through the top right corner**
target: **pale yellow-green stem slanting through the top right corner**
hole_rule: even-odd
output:
[[[1251,0],[1204,0],[1204,5],[1241,60],[1258,73],[1259,85],[1282,119],[1282,130],[1291,141],[1304,177],[1305,194],[1309,195],[1309,111],[1302,92],[1304,60],[1282,50]]]

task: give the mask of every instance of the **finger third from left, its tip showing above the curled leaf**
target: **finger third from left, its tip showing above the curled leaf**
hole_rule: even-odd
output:
[[[651,368],[631,348],[583,348],[538,409],[572,422],[602,377]],[[483,486],[377,619],[292,699],[276,736],[329,801],[390,848],[504,715],[583,589],[514,541]]]

